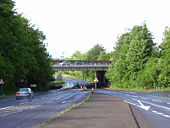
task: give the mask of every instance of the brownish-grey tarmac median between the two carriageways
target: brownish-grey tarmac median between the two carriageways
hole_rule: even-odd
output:
[[[138,115],[138,114],[137,114]],[[130,105],[123,100],[92,93],[90,99],[41,128],[140,128]],[[142,128],[141,127],[141,128]]]

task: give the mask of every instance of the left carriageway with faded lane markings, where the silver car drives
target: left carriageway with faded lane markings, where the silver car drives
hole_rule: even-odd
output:
[[[0,128],[25,128],[43,123],[86,98],[87,91],[52,91],[33,100],[0,100]]]

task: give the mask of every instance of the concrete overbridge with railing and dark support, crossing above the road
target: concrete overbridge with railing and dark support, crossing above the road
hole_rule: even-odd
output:
[[[68,64],[61,65],[61,62],[69,61]],[[81,62],[77,64],[76,62]],[[99,80],[98,85],[107,86],[108,80],[105,73],[111,61],[82,61],[82,60],[53,60],[51,66],[58,71],[94,71]]]

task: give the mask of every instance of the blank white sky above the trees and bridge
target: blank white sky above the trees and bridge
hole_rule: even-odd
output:
[[[170,27],[170,0],[14,0],[18,13],[46,35],[53,58],[86,53],[96,44],[113,51],[118,37],[146,23],[160,44]]]

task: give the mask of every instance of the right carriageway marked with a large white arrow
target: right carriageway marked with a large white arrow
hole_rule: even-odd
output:
[[[153,128],[170,128],[170,92],[140,93],[128,91],[97,90],[118,97],[138,111]]]

